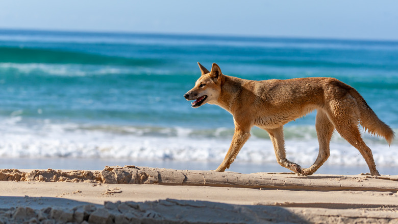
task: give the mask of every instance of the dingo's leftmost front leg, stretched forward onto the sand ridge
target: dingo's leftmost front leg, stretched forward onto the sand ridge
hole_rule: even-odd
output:
[[[234,137],[232,138],[230,149],[227,152],[222,163],[215,170],[217,172],[224,172],[225,169],[230,168],[232,162],[234,162],[243,144],[250,137],[250,128],[243,130],[242,128],[235,127]]]

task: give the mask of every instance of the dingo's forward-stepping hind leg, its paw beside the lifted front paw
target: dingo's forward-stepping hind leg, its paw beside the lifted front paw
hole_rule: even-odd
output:
[[[329,143],[333,135],[334,126],[330,122],[325,112],[321,109],[318,109],[316,114],[315,128],[319,142],[318,157],[312,166],[302,170],[301,174],[303,175],[313,174],[320,166],[322,166],[322,164],[326,162],[330,155]]]

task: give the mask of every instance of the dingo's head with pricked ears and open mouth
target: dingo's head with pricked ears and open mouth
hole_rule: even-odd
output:
[[[201,69],[202,76],[195,82],[195,86],[184,94],[185,99],[195,100],[191,105],[193,108],[206,103],[216,103],[221,93],[222,73],[220,67],[213,63],[209,72],[201,63],[197,62],[197,64]]]

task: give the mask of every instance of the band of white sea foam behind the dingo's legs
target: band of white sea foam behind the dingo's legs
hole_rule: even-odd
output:
[[[28,125],[20,117],[0,122],[0,156],[9,158],[107,158],[133,160],[174,160],[221,162],[229,148],[231,138],[200,136],[187,128],[109,128],[76,123],[43,122]],[[115,129],[117,131],[115,131]],[[120,131],[120,130],[124,130]],[[177,131],[176,131],[177,130]],[[216,129],[215,132],[229,131]],[[163,133],[162,133],[163,132]],[[160,133],[160,134],[159,134]],[[216,134],[218,135],[218,134]],[[395,156],[398,146],[391,147],[376,138],[366,137],[378,166],[398,167]],[[327,164],[362,166],[365,161],[359,151],[338,135],[331,142],[331,155]],[[286,141],[287,158],[303,166],[311,165],[318,153],[316,138],[291,138]],[[276,163],[269,139],[252,138],[242,148],[236,161]]]

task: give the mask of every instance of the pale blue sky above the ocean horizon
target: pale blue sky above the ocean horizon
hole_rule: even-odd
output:
[[[398,40],[398,1],[2,1],[0,29]]]

